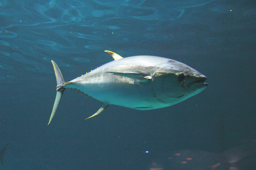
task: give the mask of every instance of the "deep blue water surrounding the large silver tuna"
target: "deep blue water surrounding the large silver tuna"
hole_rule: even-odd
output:
[[[171,107],[110,105],[88,120],[101,103],[66,90],[47,125],[56,95],[50,60],[69,81],[112,61],[104,50],[175,59],[209,85]],[[197,158],[198,169],[226,169],[216,154],[256,139],[255,53],[255,0],[2,0],[0,149],[9,144],[0,168],[172,169],[174,151],[196,150],[209,157]]]

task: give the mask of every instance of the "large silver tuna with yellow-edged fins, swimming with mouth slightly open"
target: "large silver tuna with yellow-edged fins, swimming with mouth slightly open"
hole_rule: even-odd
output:
[[[54,117],[66,88],[78,90],[101,101],[102,106],[87,119],[100,114],[109,105],[137,110],[152,110],[175,105],[206,88],[206,77],[188,65],[150,55],[121,57],[112,52],[114,61],[65,82],[52,61],[57,80],[57,94],[50,116]]]

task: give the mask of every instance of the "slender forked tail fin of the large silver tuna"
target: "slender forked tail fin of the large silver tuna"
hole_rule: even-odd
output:
[[[56,81],[57,81],[57,89],[56,89],[57,94],[56,94],[56,98],[55,98],[54,105],[53,105],[53,108],[52,108],[52,114],[51,114],[48,125],[50,124],[50,122],[52,121],[52,118],[54,117],[54,115],[56,113],[58,105],[60,104],[60,99],[61,99],[61,97],[64,93],[64,90],[65,90],[63,87],[60,87],[62,85],[62,83],[64,83],[64,79],[62,77],[62,73],[60,72],[60,69],[59,69],[58,65],[54,61],[52,61],[52,65],[53,65],[53,68],[54,68]]]

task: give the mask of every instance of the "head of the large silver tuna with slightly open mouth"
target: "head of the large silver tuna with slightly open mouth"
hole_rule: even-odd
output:
[[[170,105],[203,91],[208,85],[205,81],[206,76],[175,60],[168,66],[160,67],[152,76],[154,95],[159,101]]]

